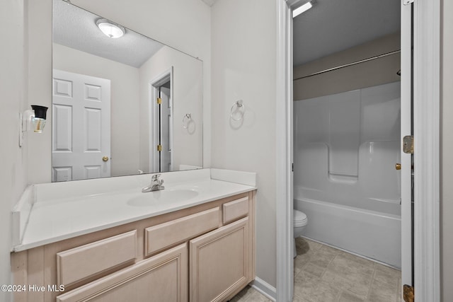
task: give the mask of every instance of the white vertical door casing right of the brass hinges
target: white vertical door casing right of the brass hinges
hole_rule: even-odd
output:
[[[413,3],[414,287],[440,301],[440,0]]]

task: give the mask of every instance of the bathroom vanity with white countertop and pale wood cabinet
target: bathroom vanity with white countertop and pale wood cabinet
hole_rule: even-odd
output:
[[[179,182],[166,180],[166,189],[155,194],[181,192],[168,193],[174,197],[173,202],[171,198],[156,201],[155,196],[147,195],[154,192],[138,196],[135,192],[125,193],[132,189],[111,192],[107,197],[105,194],[81,197],[79,206],[86,207],[84,202],[88,199],[92,207],[85,211],[97,213],[87,216],[99,216],[94,220],[102,221],[101,224],[73,221],[71,226],[64,226],[69,218],[60,222],[57,219],[47,235],[39,234],[37,228],[45,230],[52,218],[39,219],[40,214],[33,213],[34,206],[50,203],[46,205],[47,213],[55,215],[50,208],[59,207],[63,211],[66,203],[67,209],[71,209],[74,197],[67,202],[58,198],[40,201],[38,188],[35,197],[38,202],[30,211],[21,243],[11,253],[13,284],[25,285],[25,291],[15,293],[14,301],[228,300],[255,277],[256,187],[253,181],[248,185],[224,181],[231,176],[240,180],[241,176],[238,178],[234,171],[222,171],[164,174],[164,179],[166,175],[179,177],[175,176],[178,174],[185,178],[178,179]],[[254,173],[249,174],[246,178],[254,178]],[[143,183],[150,176],[130,178]],[[69,185],[74,184],[83,185],[76,182]],[[189,191],[197,194],[188,194]],[[188,198],[184,199],[184,195]],[[120,198],[115,200],[117,196]],[[108,199],[110,202],[106,202]],[[107,206],[120,211],[122,218],[113,215],[109,221],[102,217],[103,212],[111,211],[96,209]],[[74,213],[64,215],[80,217]],[[58,223],[62,228],[58,228]]]

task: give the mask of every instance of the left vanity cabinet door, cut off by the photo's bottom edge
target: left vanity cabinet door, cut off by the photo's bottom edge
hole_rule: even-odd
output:
[[[57,302],[188,301],[187,243],[57,296]]]

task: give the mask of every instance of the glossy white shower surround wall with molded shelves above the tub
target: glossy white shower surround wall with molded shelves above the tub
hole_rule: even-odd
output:
[[[399,215],[399,152],[399,82],[294,102],[296,198]]]

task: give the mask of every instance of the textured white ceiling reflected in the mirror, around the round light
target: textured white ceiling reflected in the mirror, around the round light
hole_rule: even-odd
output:
[[[127,28],[122,37],[107,37],[96,26],[99,18],[62,0],[54,0],[53,41],[137,68],[164,46]]]

